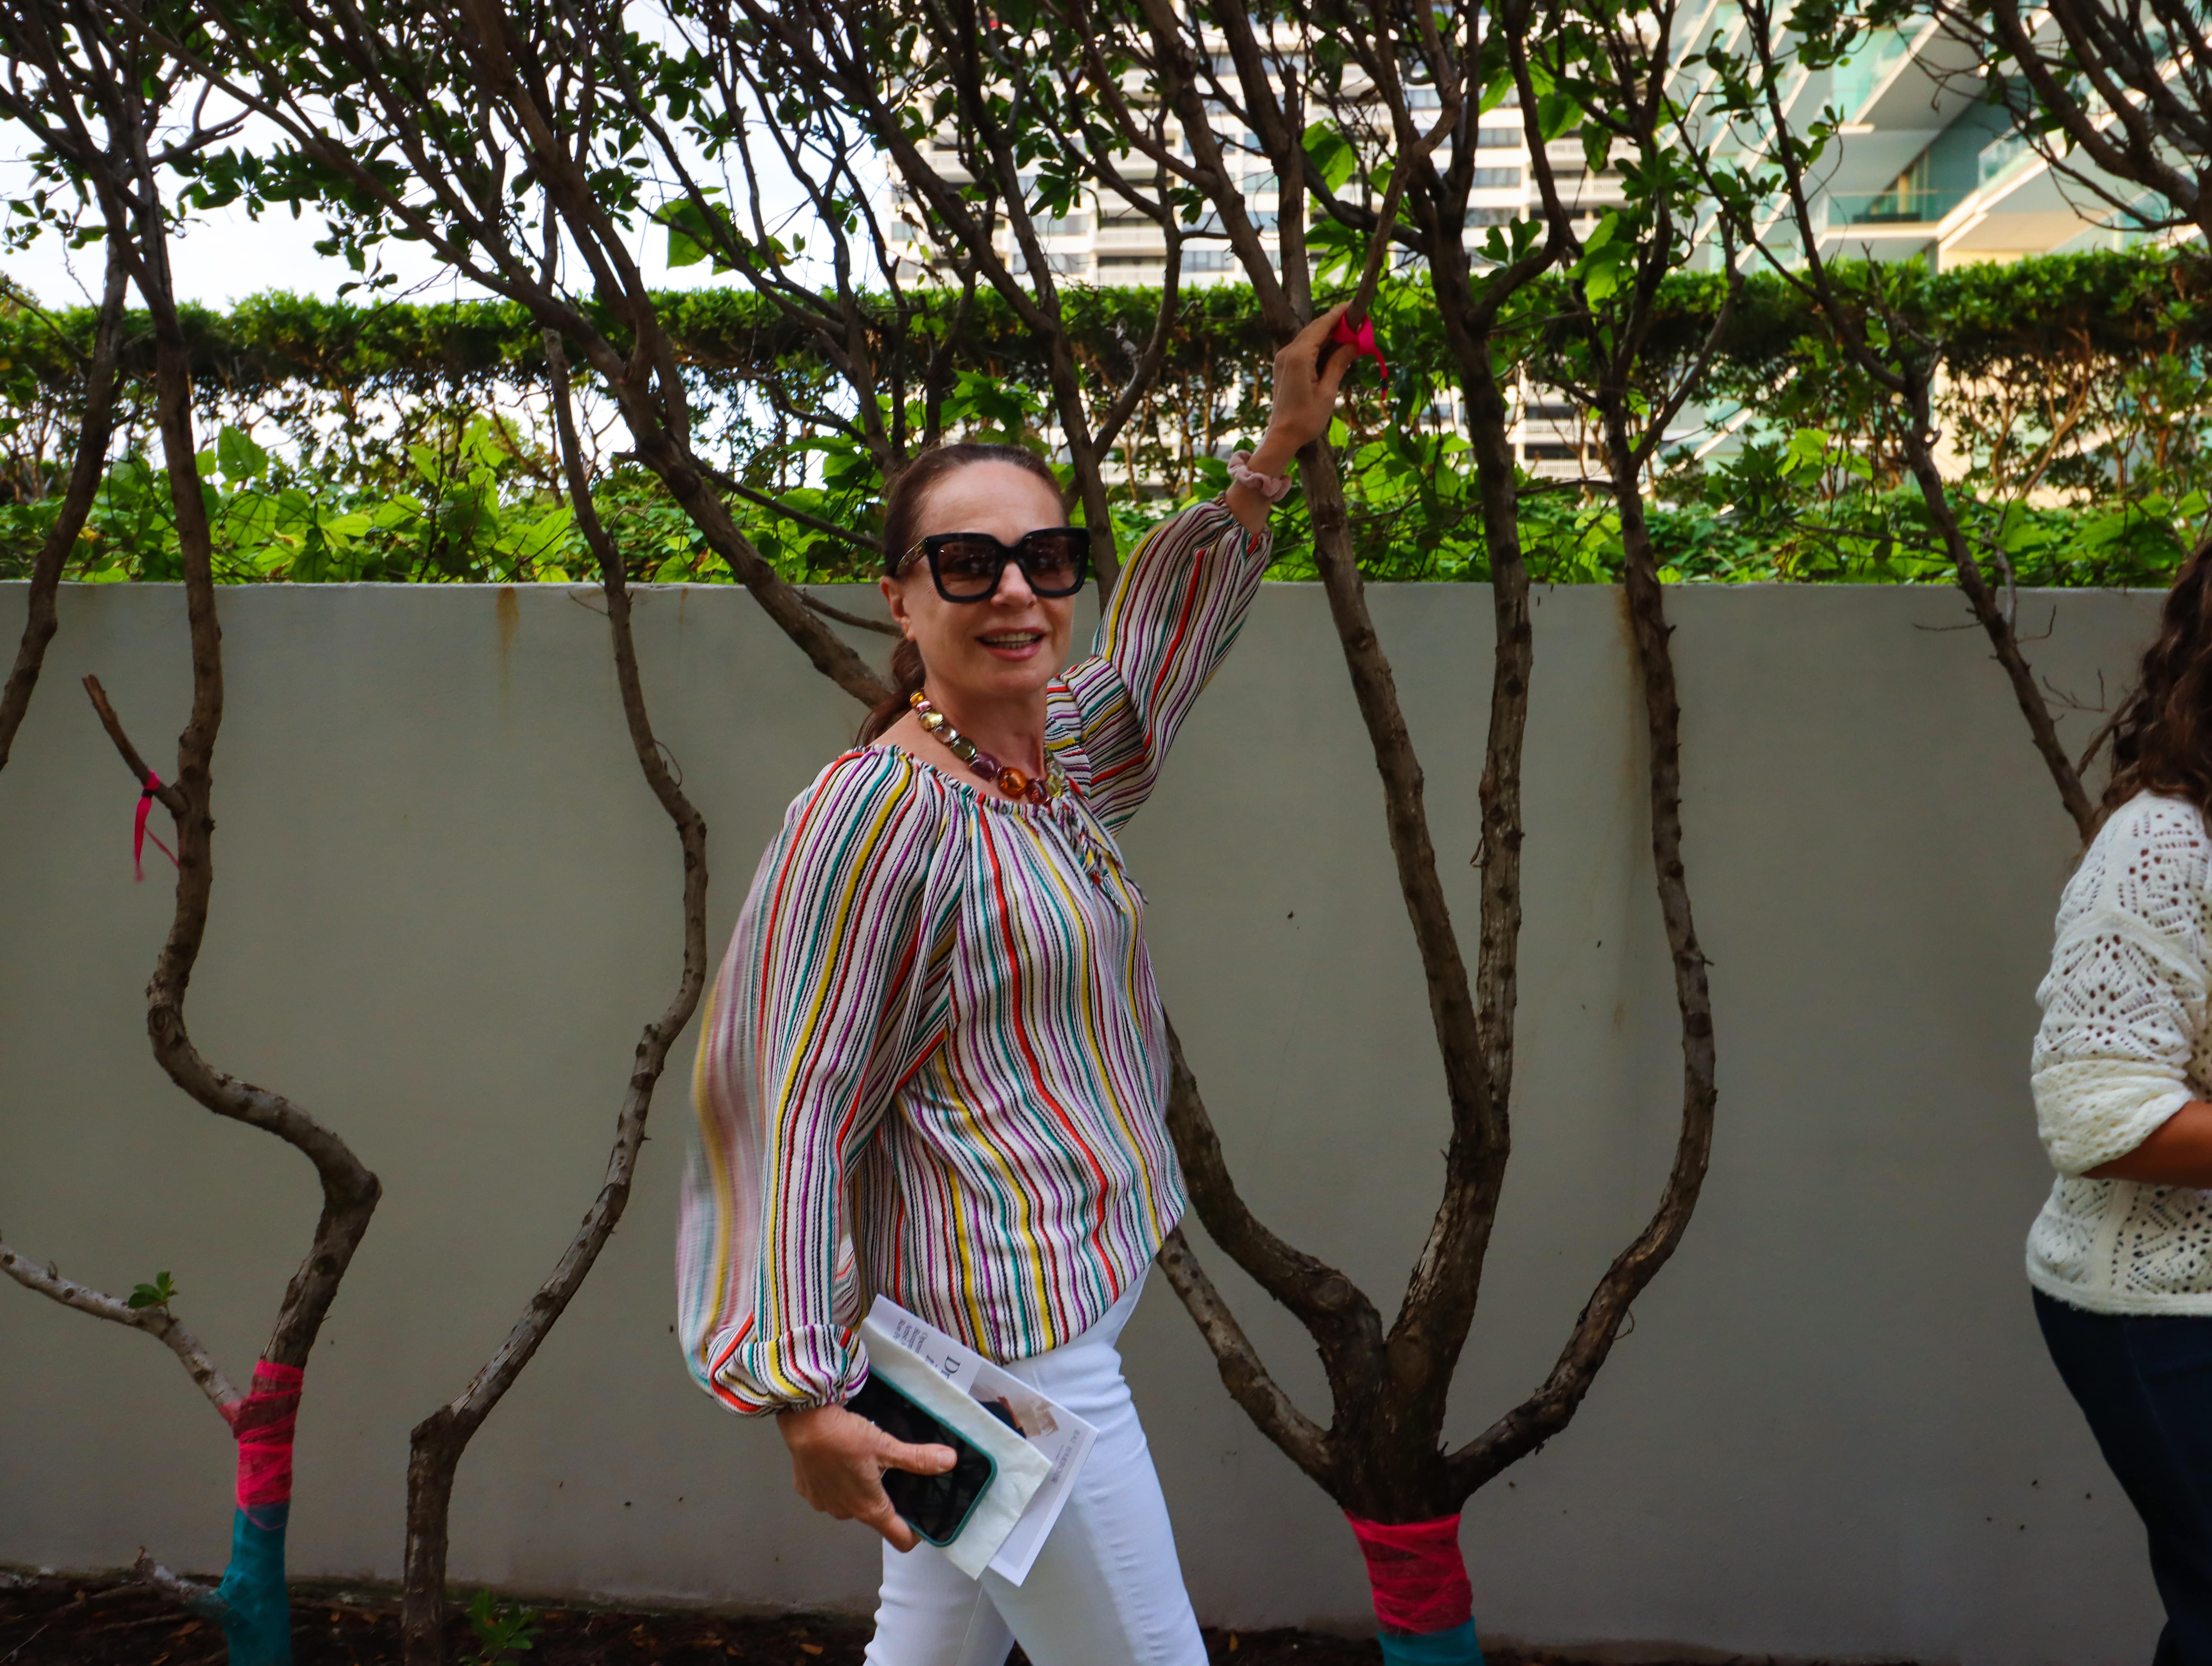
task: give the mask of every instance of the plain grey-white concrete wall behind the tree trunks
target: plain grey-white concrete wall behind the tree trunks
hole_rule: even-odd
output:
[[[1469,1507],[1478,1615],[1553,1644],[2139,1659],[2157,1624],[2141,1535],[2020,1272],[2048,1186],[2033,989],[2070,825],[1955,595],[1670,602],[1714,962],[1712,1179],[1582,1416]],[[272,586],[221,606],[217,905],[190,1011],[212,1060],[312,1106],[385,1179],[310,1374],[292,1542],[301,1573],[389,1580],[409,1425],[498,1341],[597,1184],[637,1027],[675,978],[677,850],[588,597]],[[1385,589],[1374,608],[1471,934],[1489,595]],[[0,586],[0,637],[20,611]],[[2031,597],[2051,622],[2037,666],[2095,701],[2150,611]],[[1619,602],[1548,591],[1535,617],[1517,1153],[1460,1436],[1544,1374],[1657,1195],[1679,1095]],[[314,1190],[148,1058],[166,863],[131,883],[135,792],[75,688],[100,673],[166,757],[181,597],[73,589],[62,619],[0,774],[0,1228],[111,1288],[173,1270],[179,1312],[243,1372]],[[854,710],[741,591],[653,593],[639,637],[712,827],[719,949]],[[1248,1195],[1394,1301],[1444,1111],[1316,591],[1261,597],[1130,852]],[[456,1575],[865,1608],[874,1540],[812,1518],[774,1431],[717,1412],[670,1343],[681,1077],[626,1226],[462,1469]],[[1296,1327],[1210,1261],[1323,1409]],[[1349,1533],[1230,1405],[1164,1281],[1128,1358],[1201,1613],[1356,1624]],[[0,1285],[0,1562],[144,1544],[219,1564],[230,1443],[153,1341]]]

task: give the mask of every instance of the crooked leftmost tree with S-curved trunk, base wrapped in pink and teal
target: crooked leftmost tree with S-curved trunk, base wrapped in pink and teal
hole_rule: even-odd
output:
[[[0,82],[0,115],[29,135],[33,166],[71,188],[53,192],[60,204],[55,228],[80,243],[106,241],[111,296],[113,274],[126,274],[153,336],[155,429],[168,471],[192,664],[190,710],[168,779],[133,746],[100,679],[84,677],[93,712],[131,772],[137,827],[144,827],[153,805],[175,823],[175,909],[146,985],[146,1035],[155,1062],[186,1095],[219,1117],[283,1139],[314,1166],[323,1193],[314,1237],[285,1285],[276,1325],[246,1394],[170,1312],[177,1290],[168,1272],[117,1299],[64,1279],[51,1261],[40,1266],[4,1243],[0,1272],[66,1308],[155,1336],[215,1403],[239,1447],[230,1566],[215,1589],[177,1580],[144,1553],[137,1573],[190,1608],[217,1615],[232,1666],[288,1666],[285,1531],[301,1374],[383,1188],[345,1139],[305,1108],[215,1069],[192,1044],[184,1016],[215,894],[212,763],[223,723],[223,633],[215,611],[208,493],[192,436],[190,350],[170,281],[168,237],[197,159],[237,128],[208,111],[197,97],[195,73],[170,55],[139,13],[80,0],[24,0],[0,11],[0,51],[13,66]],[[106,378],[106,398],[113,398],[113,376]],[[86,414],[80,462],[95,438],[104,447],[111,420],[113,405]],[[35,673],[35,657],[18,659],[18,677],[9,684],[18,717],[31,699]],[[119,792],[115,881],[122,885],[135,883],[126,878],[133,865],[128,825],[131,799]]]

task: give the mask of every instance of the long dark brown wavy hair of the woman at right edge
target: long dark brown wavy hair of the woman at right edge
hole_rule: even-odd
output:
[[[2212,538],[2159,608],[2159,637],[2112,712],[2112,781],[2101,823],[2137,792],[2188,799],[2212,821]]]

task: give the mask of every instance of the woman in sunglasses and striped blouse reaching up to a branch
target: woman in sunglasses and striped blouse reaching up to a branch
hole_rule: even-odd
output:
[[[1013,447],[916,460],[885,504],[896,695],[761,858],[699,1044],[681,1341],[776,1412],[799,1493],[887,1542],[876,1666],[1199,1666],[1115,1341],[1183,1212],[1144,896],[1115,834],[1267,564],[1281,471],[1327,434],[1338,312],[1274,365],[1265,438],[1130,558],[1062,670],[1086,538]],[[911,697],[920,695],[920,704]],[[1099,1427],[1029,1578],[969,1580],[883,1491],[936,1474],[845,1412],[883,1292]]]

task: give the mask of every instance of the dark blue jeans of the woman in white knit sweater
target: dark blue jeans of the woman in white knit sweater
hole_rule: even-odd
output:
[[[2166,1600],[2152,1666],[2212,1666],[2212,1319],[2119,1319],[2035,1292],[2035,1319]]]

